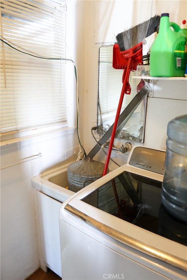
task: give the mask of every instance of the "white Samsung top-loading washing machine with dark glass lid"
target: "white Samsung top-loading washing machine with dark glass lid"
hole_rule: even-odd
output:
[[[135,146],[62,204],[62,279],[187,279],[187,225],[161,202],[164,162],[165,151]]]

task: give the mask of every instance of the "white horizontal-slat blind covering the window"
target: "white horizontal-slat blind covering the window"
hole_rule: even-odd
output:
[[[67,123],[64,2],[0,2],[1,132]]]

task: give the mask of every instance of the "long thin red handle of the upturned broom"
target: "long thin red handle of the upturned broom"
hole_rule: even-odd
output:
[[[120,95],[119,104],[118,104],[118,107],[117,107],[117,112],[116,112],[116,117],[115,117],[115,121],[114,121],[114,126],[113,126],[113,129],[112,129],[110,144],[109,144],[109,147],[108,147],[108,153],[107,153],[107,157],[106,157],[106,160],[105,160],[103,176],[105,176],[107,174],[107,169],[108,169],[108,164],[109,164],[109,160],[110,160],[110,155],[111,155],[111,152],[112,152],[112,146],[113,146],[113,143],[114,143],[114,138],[115,138],[115,134],[116,134],[117,124],[118,124],[118,121],[119,121],[120,111],[121,111],[121,108],[122,108],[123,98],[124,98],[124,94],[125,94],[125,90],[126,90],[126,86],[127,86],[127,76],[128,76],[128,71],[130,69],[131,60],[132,60],[132,58],[129,57],[128,62],[127,62],[127,68],[126,68],[126,70],[124,70],[126,72],[125,72],[125,77],[124,77],[124,81],[123,81],[123,86],[122,86],[122,91],[121,91],[121,95]]]

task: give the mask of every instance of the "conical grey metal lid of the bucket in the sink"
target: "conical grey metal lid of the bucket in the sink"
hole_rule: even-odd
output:
[[[103,162],[93,160],[90,158],[85,158],[76,162],[72,162],[67,167],[67,172],[76,174],[76,175],[86,175],[91,177],[98,177],[103,175],[105,164]],[[107,173],[109,169],[107,170]]]

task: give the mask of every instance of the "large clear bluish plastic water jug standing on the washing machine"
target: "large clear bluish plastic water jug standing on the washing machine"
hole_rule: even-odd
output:
[[[174,217],[187,222],[187,115],[167,125],[162,203]]]

